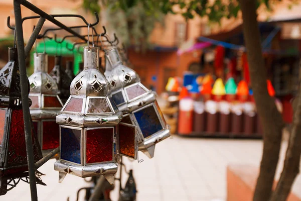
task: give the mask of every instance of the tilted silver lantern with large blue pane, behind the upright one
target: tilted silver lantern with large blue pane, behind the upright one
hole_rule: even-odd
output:
[[[153,158],[155,145],[170,136],[170,130],[156,101],[156,92],[148,90],[138,74],[124,66],[113,47],[105,51],[111,68],[105,72],[112,97],[118,109],[125,115],[122,121],[137,126],[139,150]]]

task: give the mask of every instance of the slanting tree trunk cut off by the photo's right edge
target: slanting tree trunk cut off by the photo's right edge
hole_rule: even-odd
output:
[[[301,62],[300,62],[301,65]],[[271,201],[285,201],[290,192],[291,186],[299,173],[301,156],[301,87],[298,95],[293,100],[293,123],[289,136],[282,173],[272,194]]]

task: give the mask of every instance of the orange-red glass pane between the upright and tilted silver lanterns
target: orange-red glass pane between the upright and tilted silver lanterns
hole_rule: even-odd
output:
[[[135,157],[135,128],[119,124],[120,154]]]

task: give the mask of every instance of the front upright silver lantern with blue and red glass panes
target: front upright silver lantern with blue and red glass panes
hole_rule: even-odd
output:
[[[54,167],[60,182],[67,173],[80,177],[102,174],[110,183],[114,181],[122,113],[110,101],[109,83],[98,69],[99,48],[84,47],[84,70],[73,79],[71,95],[56,117],[61,152]]]

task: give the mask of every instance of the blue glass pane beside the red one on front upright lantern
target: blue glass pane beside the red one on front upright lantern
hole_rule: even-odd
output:
[[[61,128],[61,159],[80,164],[81,130]]]

